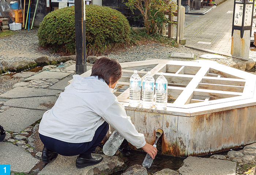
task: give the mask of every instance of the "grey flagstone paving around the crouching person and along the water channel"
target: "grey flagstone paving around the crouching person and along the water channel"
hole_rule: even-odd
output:
[[[48,66],[49,68],[49,66]],[[47,68],[47,69],[48,69]],[[91,67],[87,67],[87,70]],[[103,156],[95,166],[78,169],[76,156],[61,156],[48,164],[41,161],[42,143],[38,136],[38,123],[46,110],[52,108],[60,92],[75,73],[75,65],[49,68],[27,78],[28,83],[16,84],[16,88],[0,95],[0,124],[10,133],[0,142],[0,164],[11,164],[12,172],[38,175],[99,175],[109,174],[124,165],[117,156]],[[19,75],[16,74],[17,76]],[[23,86],[23,87],[21,87]],[[98,151],[102,153],[102,151]],[[213,159],[189,157],[177,171],[164,169],[155,175],[235,175],[237,163],[253,163],[256,144],[246,146],[242,152],[230,152],[227,156]],[[224,160],[219,160],[224,159]],[[233,160],[231,162],[228,160]],[[135,165],[123,175],[147,174],[146,168]]]

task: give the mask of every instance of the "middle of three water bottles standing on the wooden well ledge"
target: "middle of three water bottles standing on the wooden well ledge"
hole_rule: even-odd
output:
[[[154,83],[155,79],[152,77],[151,72],[142,81],[142,107],[151,108],[154,98]]]

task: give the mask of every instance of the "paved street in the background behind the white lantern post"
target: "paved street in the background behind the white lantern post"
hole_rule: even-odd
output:
[[[205,15],[185,14],[185,46],[231,56],[233,8],[234,1],[227,0]],[[252,35],[256,31],[253,22]],[[250,51],[249,58],[256,60],[256,51]]]

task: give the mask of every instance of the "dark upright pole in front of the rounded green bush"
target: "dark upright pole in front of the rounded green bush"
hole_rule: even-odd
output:
[[[86,0],[75,0],[76,74],[79,75],[86,72],[85,4]]]

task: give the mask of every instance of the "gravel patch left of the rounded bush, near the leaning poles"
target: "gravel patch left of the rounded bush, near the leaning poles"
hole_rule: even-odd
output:
[[[38,28],[13,31],[15,35],[0,38],[0,66],[2,61],[13,63],[18,60],[33,60],[42,55],[58,57],[38,45]]]

